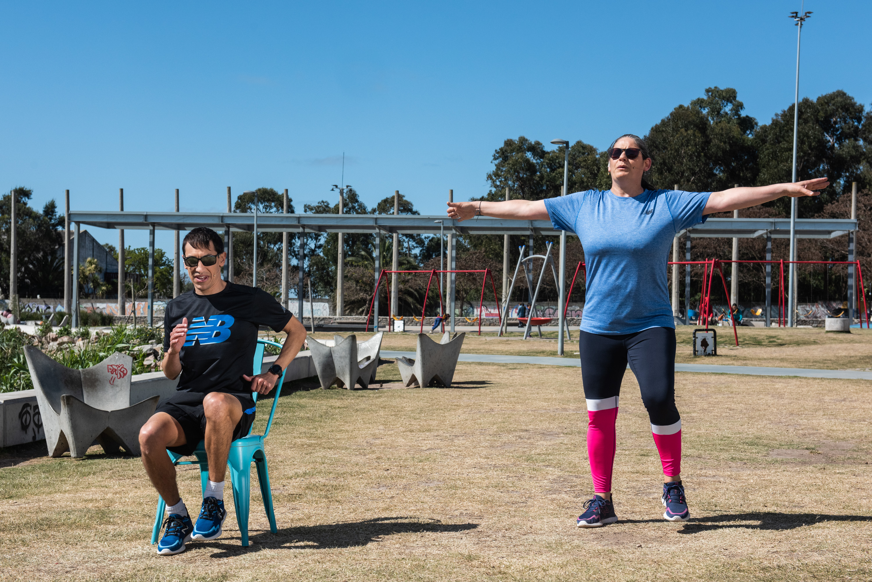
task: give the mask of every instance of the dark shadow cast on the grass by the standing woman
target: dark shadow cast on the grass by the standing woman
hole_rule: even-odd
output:
[[[623,520],[622,520],[623,521]],[[659,519],[629,519],[623,523],[660,523]],[[736,522],[759,522],[742,524]],[[821,513],[780,513],[778,511],[753,511],[748,513],[724,513],[711,517],[691,517],[678,533],[691,534],[701,531],[745,530],[795,530],[805,525],[825,522],[872,522],[872,516],[831,516]]]

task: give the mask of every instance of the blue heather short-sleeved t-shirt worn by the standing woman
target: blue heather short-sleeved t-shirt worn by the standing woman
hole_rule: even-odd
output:
[[[620,334],[675,327],[666,283],[672,239],[705,222],[710,195],[645,190],[630,198],[588,190],[545,199],[555,229],[576,233],[584,249],[588,277],[582,331]]]

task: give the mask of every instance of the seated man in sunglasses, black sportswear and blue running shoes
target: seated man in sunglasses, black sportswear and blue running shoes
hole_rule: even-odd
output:
[[[306,330],[266,291],[221,280],[227,260],[224,242],[212,229],[191,230],[182,241],[185,267],[194,289],[167,302],[164,359],[177,392],[162,402],[140,430],[142,464],[154,489],[167,502],[167,521],[158,553],[185,551],[191,539],[221,536],[224,474],[230,443],[249,434],[255,420],[252,393],[269,394],[303,346]],[[288,334],[276,364],[250,376],[260,325]],[[187,513],[167,448],[191,455],[205,441],[209,480],[195,524]]]

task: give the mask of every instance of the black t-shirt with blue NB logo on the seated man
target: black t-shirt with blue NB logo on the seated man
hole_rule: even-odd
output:
[[[243,380],[242,374],[252,373],[258,326],[269,325],[280,332],[292,317],[266,291],[235,283],[214,295],[197,295],[192,290],[167,302],[164,352],[174,326],[187,318],[177,389],[250,393],[251,382]]]

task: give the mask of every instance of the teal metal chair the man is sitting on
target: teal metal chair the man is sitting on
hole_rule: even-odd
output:
[[[255,348],[255,359],[253,362],[253,373],[261,373],[263,365],[263,349],[266,346],[275,346],[282,348],[281,344],[276,344],[274,341],[266,339],[258,339],[257,347]],[[257,480],[261,483],[261,496],[263,497],[263,508],[269,517],[269,531],[276,533],[276,514],[273,511],[272,491],[269,490],[269,470],[267,469],[267,457],[263,450],[263,441],[269,435],[269,428],[272,426],[273,416],[276,415],[276,404],[278,404],[279,394],[282,392],[282,383],[284,382],[284,373],[278,379],[276,388],[273,390],[273,405],[269,411],[269,420],[267,428],[263,431],[263,435],[252,435],[249,428],[249,435],[243,436],[230,444],[230,454],[228,455],[227,464],[230,469],[230,481],[233,483],[233,505],[236,510],[236,523],[239,524],[239,531],[242,533],[242,545],[249,544],[249,500],[251,496],[251,463],[254,462],[257,468]],[[257,401],[257,393],[252,393],[252,396]],[[254,428],[254,425],[252,425]],[[180,461],[181,455],[167,450],[169,458],[174,465],[200,465],[200,484],[203,491],[206,490],[206,485],[209,480],[208,459],[206,457],[205,443],[201,441],[194,450],[196,461]],[[160,525],[163,523],[164,510],[167,508],[167,502],[163,497],[158,496],[158,510],[154,516],[154,528],[152,530],[152,544],[157,544],[158,535],[160,534]],[[195,516],[191,516],[195,520]]]

